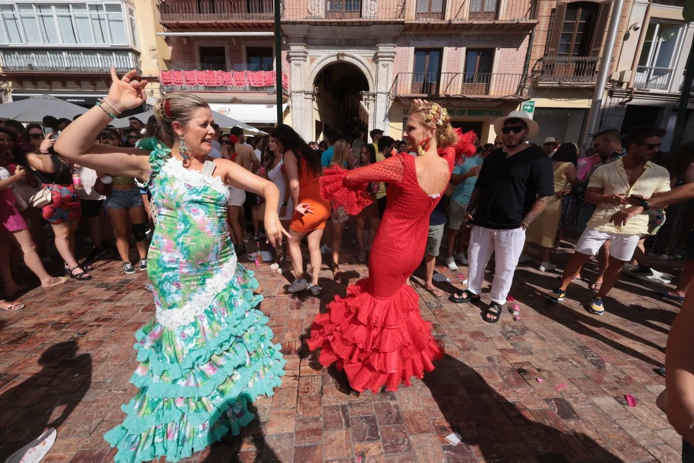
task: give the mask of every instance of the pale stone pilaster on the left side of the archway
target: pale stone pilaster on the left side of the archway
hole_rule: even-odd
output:
[[[289,42],[287,60],[291,67],[289,74],[289,100],[291,101],[292,128],[307,142],[311,141],[312,129],[312,96],[313,83],[307,82],[308,51],[306,35],[308,26],[282,26],[282,32]]]

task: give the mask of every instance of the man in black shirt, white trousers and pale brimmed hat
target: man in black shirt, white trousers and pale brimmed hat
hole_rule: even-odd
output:
[[[468,203],[468,289],[450,296],[456,303],[479,301],[484,268],[495,253],[491,303],[482,319],[496,323],[513,283],[525,244],[525,229],[555,194],[552,161],[538,146],[527,144],[539,126],[525,112],[511,111],[494,121],[503,146],[487,155]]]

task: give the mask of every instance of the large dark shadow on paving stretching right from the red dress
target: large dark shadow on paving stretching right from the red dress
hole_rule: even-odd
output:
[[[463,444],[443,446],[448,461],[477,461],[471,446],[477,447],[487,462],[622,461],[588,435],[566,428],[551,410],[533,410],[541,415],[532,416],[522,404],[519,407],[507,401],[471,367],[450,355],[437,362],[434,371],[425,373],[423,382],[450,429],[462,436]],[[567,418],[575,415],[564,399],[545,401],[550,407],[549,401],[563,401],[558,413]],[[536,422],[552,419],[557,428],[564,429]],[[443,423],[439,422],[436,428],[441,438],[450,434]]]

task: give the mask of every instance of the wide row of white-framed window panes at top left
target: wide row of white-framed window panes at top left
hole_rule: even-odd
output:
[[[0,44],[137,48],[135,11],[125,3],[1,3]]]

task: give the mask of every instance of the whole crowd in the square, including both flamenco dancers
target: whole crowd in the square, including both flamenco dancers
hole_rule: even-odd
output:
[[[671,187],[694,183],[694,144],[661,153],[660,128],[636,128],[626,140],[601,131],[582,155],[557,137],[530,143],[538,124],[513,111],[494,122],[495,142],[480,145],[474,133],[453,130],[444,108],[416,100],[404,140],[328,130],[320,143],[306,142],[285,124],[246,140],[242,128],[214,124],[205,101],[174,92],[146,124],[131,118],[117,131],[109,122],[144,102],[146,83],[134,71],[112,77],[108,97],[72,121],[0,126],[0,277],[9,299],[0,308],[24,308],[12,300],[24,290],[12,274],[19,261],[44,288],[98,278],[94,262],[109,251],[124,275],[148,272],[156,312],[136,335],[140,389],[124,407],[128,419],[105,435],[117,459],[189,456],[245,426],[247,402],[280,384],[285,361],[254,309],[257,281],[237,261],[259,262],[265,243],[271,268],[294,272],[290,293],[321,294],[323,255],[337,278],[345,239],[369,262],[368,278],[336,297],[306,339],[357,392],[409,385],[442,357],[410,287],[424,263],[425,289],[444,296],[433,278],[442,249],[448,269],[468,267],[466,289],[448,295],[454,303],[480,301],[493,257],[488,323],[502,317],[518,264],[532,260],[559,277],[547,293],[558,303],[597,256],[589,310],[598,315],[625,265],[634,276],[654,274],[648,249],[687,258],[677,288],[658,296],[683,300],[694,276],[691,214],[686,205],[668,210],[666,222],[663,209]],[[566,252],[562,238],[574,229],[560,276],[552,254]],[[56,254],[62,276],[44,267]],[[210,412],[210,403],[226,413]],[[162,425],[174,418],[169,432]]]

